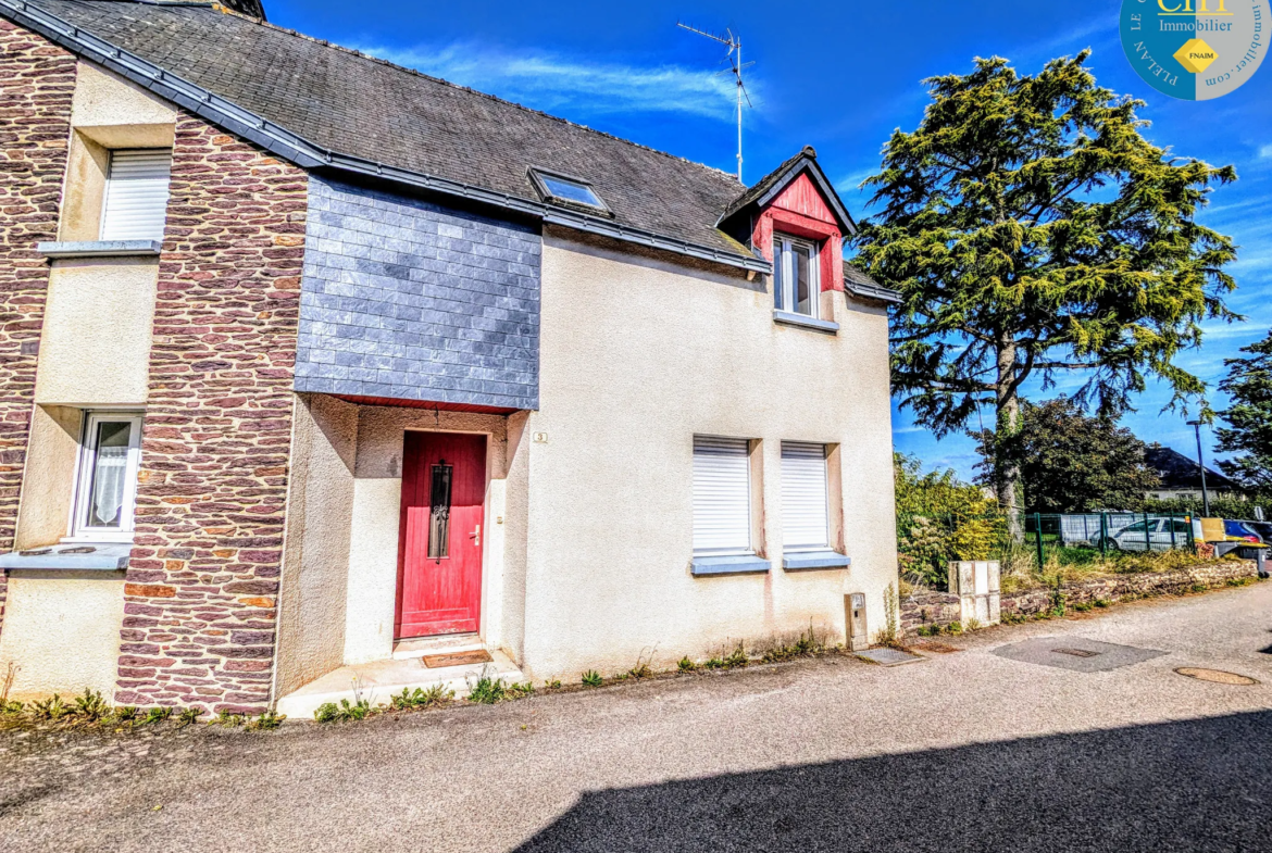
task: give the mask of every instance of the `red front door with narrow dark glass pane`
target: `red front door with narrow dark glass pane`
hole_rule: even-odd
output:
[[[477,631],[486,436],[407,432],[396,638]]]

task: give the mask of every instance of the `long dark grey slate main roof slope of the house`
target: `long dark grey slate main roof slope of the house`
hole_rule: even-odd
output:
[[[259,6],[257,0],[233,5]],[[304,168],[379,175],[770,271],[716,228],[734,202],[753,194],[719,169],[211,3],[0,0],[0,15]],[[529,167],[590,181],[613,216],[544,205]]]

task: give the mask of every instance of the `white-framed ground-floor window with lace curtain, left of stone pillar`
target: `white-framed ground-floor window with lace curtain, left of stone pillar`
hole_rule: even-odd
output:
[[[89,542],[132,539],[140,461],[140,412],[86,413],[70,538]]]

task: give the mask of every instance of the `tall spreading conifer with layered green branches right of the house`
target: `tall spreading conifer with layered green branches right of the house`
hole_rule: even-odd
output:
[[[1075,378],[1105,417],[1150,376],[1172,406],[1205,384],[1175,364],[1199,322],[1231,319],[1231,240],[1198,225],[1213,184],[1236,178],[1149,142],[1142,102],[1086,70],[1088,51],[1021,76],[1002,58],[927,80],[915,132],[895,131],[864,182],[881,211],[859,263],[895,287],[893,388],[940,436],[981,406],[1018,428],[1024,383]],[[1070,384],[1070,383],[1066,383]],[[1000,503],[1015,516],[1019,470],[990,447]]]

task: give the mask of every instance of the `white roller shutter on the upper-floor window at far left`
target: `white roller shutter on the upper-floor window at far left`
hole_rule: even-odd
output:
[[[168,211],[172,151],[111,151],[102,206],[103,240],[162,240]]]

